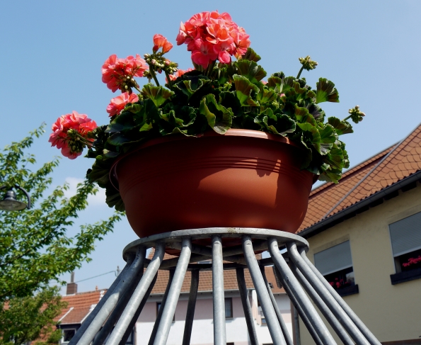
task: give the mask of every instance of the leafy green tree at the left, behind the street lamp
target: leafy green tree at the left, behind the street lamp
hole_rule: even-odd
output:
[[[19,312],[21,317],[25,317],[24,305],[47,305],[47,309],[48,305],[59,306],[57,290],[54,294],[54,290],[49,288],[51,281],[59,281],[63,273],[74,271],[81,267],[83,261],[89,261],[88,254],[93,251],[96,240],[103,239],[105,234],[113,231],[115,222],[122,215],[114,213],[107,220],[81,225],[77,234],[69,237],[69,228],[74,225],[78,213],[86,209],[88,196],[95,194],[97,188],[93,183],[84,181],[79,184],[76,195],[65,198],[64,191],[69,187],[64,184],[53,188],[50,195],[45,196],[52,184],[51,174],[58,166],[59,158],[31,171],[29,167],[35,164],[35,156],[25,153],[34,138],[42,135],[43,127],[30,132],[30,136],[20,142],[12,142],[0,152],[0,186],[18,185],[25,188],[33,203],[30,210],[0,210],[0,329],[4,329],[3,322],[6,324],[8,317],[16,317]],[[24,198],[19,191],[16,192],[18,198]],[[51,300],[47,302],[45,298],[49,296]],[[40,304],[40,300],[44,302]],[[52,321],[54,312],[48,315],[44,319],[45,327]],[[47,322],[47,319],[50,321]],[[16,324],[16,329],[9,330],[7,336],[20,334],[18,326]],[[39,329],[40,325],[37,327]],[[33,338],[37,331],[33,329],[33,332],[25,334],[16,339],[21,342],[34,340],[28,336]]]

